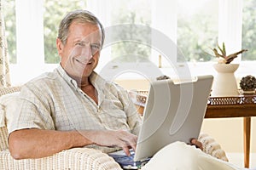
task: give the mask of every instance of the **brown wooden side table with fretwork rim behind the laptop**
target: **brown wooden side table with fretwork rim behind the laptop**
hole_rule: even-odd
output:
[[[139,91],[136,97],[135,105],[141,115],[147,95],[147,91]],[[249,167],[250,162],[251,116],[256,116],[256,94],[208,99],[205,118],[243,117],[244,167]]]

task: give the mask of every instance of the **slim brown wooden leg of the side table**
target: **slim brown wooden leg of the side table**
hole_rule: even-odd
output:
[[[251,117],[243,118],[244,167],[250,165]]]

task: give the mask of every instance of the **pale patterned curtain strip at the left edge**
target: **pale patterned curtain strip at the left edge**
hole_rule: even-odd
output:
[[[4,30],[3,6],[0,0],[0,88],[9,87],[9,59],[7,54],[7,41]]]

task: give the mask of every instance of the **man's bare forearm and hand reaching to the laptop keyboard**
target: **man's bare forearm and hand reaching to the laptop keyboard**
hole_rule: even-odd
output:
[[[9,150],[15,159],[51,156],[61,150],[89,144],[119,146],[129,155],[135,149],[137,136],[125,131],[55,131],[21,129],[10,133]]]

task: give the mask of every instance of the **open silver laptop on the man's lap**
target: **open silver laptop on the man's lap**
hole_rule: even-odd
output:
[[[154,154],[175,141],[198,139],[212,88],[211,75],[190,80],[155,81],[150,84],[137,149],[109,153],[124,169],[143,167]]]

